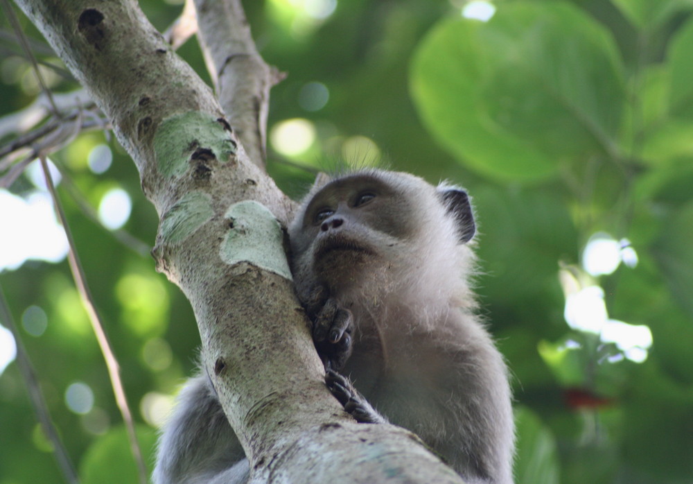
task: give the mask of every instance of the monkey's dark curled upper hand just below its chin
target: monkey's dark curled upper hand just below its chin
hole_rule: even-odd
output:
[[[313,341],[325,368],[339,370],[351,356],[353,316],[328,298],[313,318]]]

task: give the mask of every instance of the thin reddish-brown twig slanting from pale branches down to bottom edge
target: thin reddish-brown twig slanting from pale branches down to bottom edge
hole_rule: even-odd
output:
[[[55,191],[53,178],[51,178],[51,173],[49,171],[48,164],[46,163],[46,157],[43,153],[41,153],[39,155],[39,159],[41,160],[41,168],[43,169],[44,177],[46,178],[46,187],[48,187],[49,192],[51,193],[51,198],[53,198],[55,212],[58,214],[62,228],[65,231],[65,236],[67,236],[67,242],[69,244],[67,258],[70,264],[70,270],[72,271],[72,277],[75,280],[75,285],[77,286],[77,290],[82,298],[82,304],[84,304],[87,314],[89,315],[91,327],[94,329],[94,334],[96,334],[96,340],[98,341],[98,345],[101,349],[101,353],[103,354],[103,359],[106,362],[106,368],[108,369],[108,374],[111,379],[113,393],[116,397],[116,404],[121,410],[123,422],[125,422],[125,429],[128,431],[130,448],[132,449],[132,454],[139,470],[139,481],[141,484],[146,484],[147,468],[142,458],[142,451],[139,448],[139,443],[137,442],[137,434],[134,431],[132,413],[130,412],[130,406],[128,406],[128,399],[125,397],[125,389],[123,388],[123,382],[121,381],[118,361],[116,360],[113,349],[111,348],[108,337],[104,331],[103,323],[101,322],[98,312],[96,311],[94,298],[91,297],[91,292],[89,291],[89,286],[87,285],[87,278],[85,277],[84,270],[82,269],[82,264],[80,263],[77,254],[71,230],[69,225],[67,225],[67,218],[65,217],[62,205],[60,205],[58,193]]]

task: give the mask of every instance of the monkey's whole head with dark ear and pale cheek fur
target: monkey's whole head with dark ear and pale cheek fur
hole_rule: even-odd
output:
[[[289,227],[299,290],[332,295],[458,286],[475,233],[467,194],[407,173],[367,170],[319,179]],[[418,287],[417,287],[418,286]]]

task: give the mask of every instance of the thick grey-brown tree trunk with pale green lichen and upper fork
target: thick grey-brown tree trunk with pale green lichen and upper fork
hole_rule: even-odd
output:
[[[240,5],[196,1],[227,116],[136,1],[17,3],[137,164],[159,214],[157,267],[193,306],[252,482],[461,482],[410,432],[353,422],[324,386],[284,252],[294,204],[262,168],[277,74],[254,51]]]

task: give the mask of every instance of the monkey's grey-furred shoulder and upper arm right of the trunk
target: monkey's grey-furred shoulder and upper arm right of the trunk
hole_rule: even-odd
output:
[[[467,482],[511,484],[514,424],[505,363],[480,325],[447,329],[412,334],[416,344],[401,348],[402,360],[390,362],[367,397]]]

